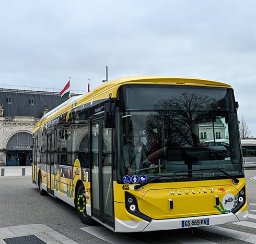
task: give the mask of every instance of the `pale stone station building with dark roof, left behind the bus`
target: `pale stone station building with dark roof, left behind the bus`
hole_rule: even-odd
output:
[[[0,89],[0,166],[30,165],[34,125],[67,99],[59,92]]]

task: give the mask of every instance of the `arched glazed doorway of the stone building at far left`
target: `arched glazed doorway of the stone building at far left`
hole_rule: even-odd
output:
[[[6,165],[31,165],[32,136],[26,132],[15,134],[7,143]]]

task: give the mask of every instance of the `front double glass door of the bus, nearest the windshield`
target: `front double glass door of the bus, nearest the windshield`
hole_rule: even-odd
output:
[[[112,129],[102,118],[91,122],[92,216],[114,226],[112,179]]]

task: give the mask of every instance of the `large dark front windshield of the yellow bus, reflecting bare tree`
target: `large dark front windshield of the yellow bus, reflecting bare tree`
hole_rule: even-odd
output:
[[[232,89],[127,85],[118,99],[120,184],[243,176]]]

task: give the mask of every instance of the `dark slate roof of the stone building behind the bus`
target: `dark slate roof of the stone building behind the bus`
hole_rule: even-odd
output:
[[[44,106],[49,110],[65,102],[57,92],[0,89],[0,102],[4,108],[4,117],[26,116],[41,118]]]

